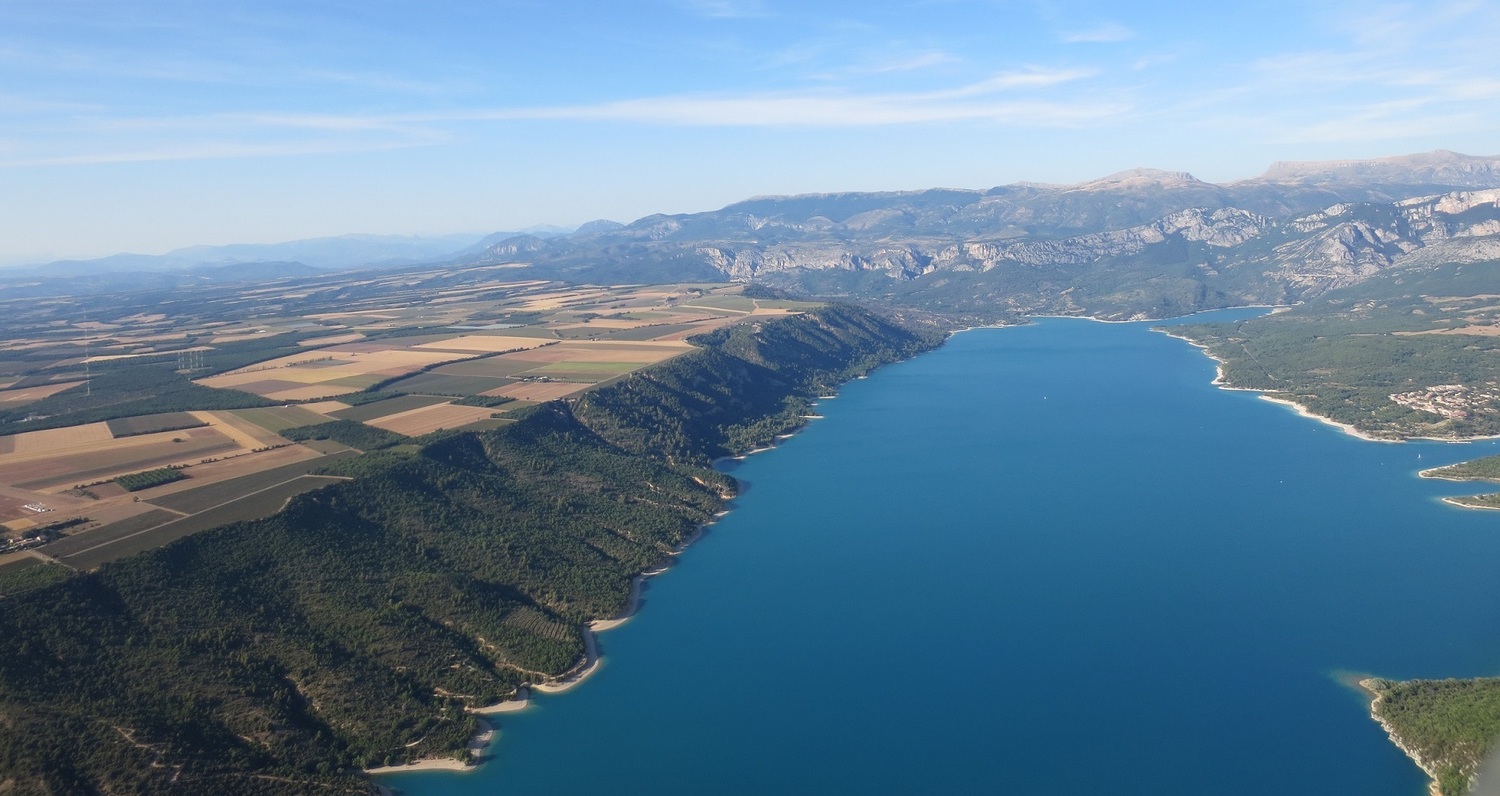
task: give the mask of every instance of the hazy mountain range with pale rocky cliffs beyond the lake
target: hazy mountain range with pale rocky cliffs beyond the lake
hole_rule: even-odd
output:
[[[1500,258],[1500,157],[1276,163],[1228,184],[1132,169],[1071,184],[760,196],[465,262],[579,282],[759,282],[946,312],[1180,315],[1286,303],[1406,262]]]

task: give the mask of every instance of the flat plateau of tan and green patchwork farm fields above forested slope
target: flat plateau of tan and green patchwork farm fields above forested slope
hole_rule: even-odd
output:
[[[28,555],[92,568],[276,511],[327,483],[312,471],[360,454],[288,429],[498,427],[686,354],[694,334],[812,306],[524,276],[423,267],[0,301],[0,528],[86,520]],[[483,399],[514,400],[462,403]],[[129,478],[168,468],[180,478]]]

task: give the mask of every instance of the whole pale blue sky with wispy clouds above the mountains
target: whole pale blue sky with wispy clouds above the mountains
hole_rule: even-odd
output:
[[[1500,153],[1500,3],[0,3],[0,262]]]

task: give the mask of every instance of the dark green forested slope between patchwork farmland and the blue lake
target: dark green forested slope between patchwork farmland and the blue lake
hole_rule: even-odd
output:
[[[716,457],[940,342],[825,306],[482,433],[330,465],[352,477],[0,600],[0,793],[368,793],[462,757],[470,709],[584,660],[735,493]]]

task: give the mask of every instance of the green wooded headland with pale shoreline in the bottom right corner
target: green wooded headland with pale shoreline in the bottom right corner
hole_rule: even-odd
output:
[[[1376,718],[1426,763],[1442,796],[1468,793],[1479,763],[1500,739],[1500,678],[1368,679],[1362,685],[1378,697]]]

